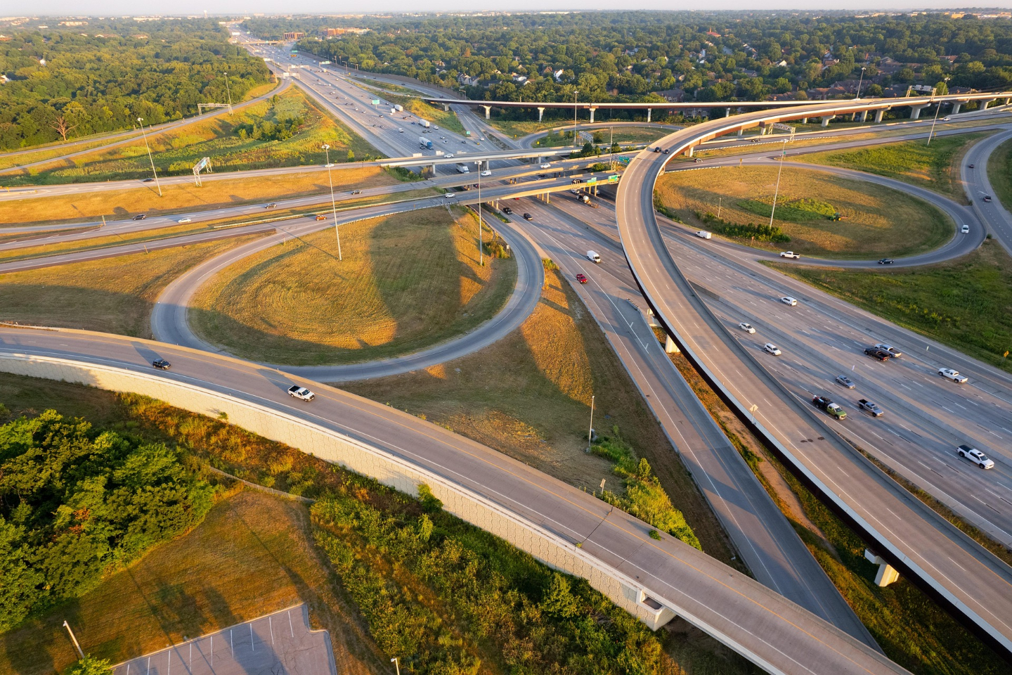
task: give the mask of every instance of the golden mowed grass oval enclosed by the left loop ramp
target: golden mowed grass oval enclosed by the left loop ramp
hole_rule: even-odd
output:
[[[487,232],[486,241],[492,235]],[[516,263],[478,264],[478,224],[427,208],[271,247],[223,270],[195,297],[194,330],[273,363],[348,363],[416,351],[490,319]]]

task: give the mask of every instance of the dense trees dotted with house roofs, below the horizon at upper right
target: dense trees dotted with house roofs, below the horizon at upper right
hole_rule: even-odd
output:
[[[644,100],[681,88],[689,99],[756,100],[856,78],[864,64],[878,90],[946,77],[950,86],[1012,83],[1012,21],[972,15],[579,12],[273,17],[245,25],[266,37],[304,30],[299,49],[365,71],[453,89],[459,74],[479,78],[468,87],[473,98],[563,101],[579,91],[581,100]],[[341,25],[371,30],[317,37],[321,27]],[[877,77],[887,58],[905,67]]]

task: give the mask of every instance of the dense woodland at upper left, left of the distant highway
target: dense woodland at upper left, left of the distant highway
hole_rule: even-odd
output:
[[[228,89],[239,100],[269,73],[228,38],[203,19],[15,31],[0,41],[0,149],[178,119]]]

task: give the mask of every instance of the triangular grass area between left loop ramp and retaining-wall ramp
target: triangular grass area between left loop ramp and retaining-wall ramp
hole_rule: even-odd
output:
[[[612,465],[588,454],[595,427],[617,426],[646,457],[703,551],[734,565],[726,535],[590,313],[557,272],[523,325],[479,352],[424,371],[342,385],[424,416],[567,483],[621,492]],[[713,671],[718,672],[718,671]]]

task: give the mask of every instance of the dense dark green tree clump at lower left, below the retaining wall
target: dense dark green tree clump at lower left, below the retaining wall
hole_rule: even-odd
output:
[[[194,526],[213,496],[161,443],[52,410],[0,426],[0,630]]]

